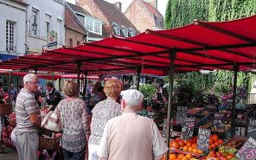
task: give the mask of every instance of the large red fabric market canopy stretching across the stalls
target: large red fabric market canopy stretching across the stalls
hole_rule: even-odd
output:
[[[146,30],[131,38],[112,36],[76,48],[47,50],[0,63],[0,68],[39,70],[88,75],[166,75],[171,54],[176,54],[176,71],[254,69],[256,16],[229,22],[196,21],[167,30]],[[171,55],[171,56],[170,56]]]

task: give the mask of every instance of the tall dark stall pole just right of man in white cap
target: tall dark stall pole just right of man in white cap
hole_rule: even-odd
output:
[[[169,96],[168,96],[168,109],[167,109],[167,125],[166,125],[166,144],[170,146],[170,119],[173,118],[173,77],[174,77],[174,61],[176,59],[176,51],[170,52],[170,71],[169,71]],[[169,152],[167,151],[165,160],[169,160]]]

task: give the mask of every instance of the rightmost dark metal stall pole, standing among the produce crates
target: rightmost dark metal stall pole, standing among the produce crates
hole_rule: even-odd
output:
[[[233,85],[233,102],[232,102],[232,124],[231,124],[231,136],[234,137],[235,135],[235,115],[234,115],[234,109],[235,109],[235,99],[236,99],[236,87],[237,87],[237,72],[239,70],[239,65],[234,64],[233,66],[234,70],[234,85]]]

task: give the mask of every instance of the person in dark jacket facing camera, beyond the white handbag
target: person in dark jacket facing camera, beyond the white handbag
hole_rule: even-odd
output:
[[[54,85],[52,82],[48,82],[46,85],[47,91],[46,91],[46,103],[48,105],[52,105],[52,110],[55,109],[55,107],[59,104],[61,101],[61,93],[57,91],[54,88]]]

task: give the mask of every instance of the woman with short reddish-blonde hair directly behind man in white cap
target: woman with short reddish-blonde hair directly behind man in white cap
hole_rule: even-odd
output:
[[[117,99],[123,90],[123,84],[112,78],[107,80],[104,85],[104,92],[107,99],[100,101],[93,108],[93,118],[91,124],[91,136],[89,138],[89,158],[88,160],[98,160],[97,150],[99,147],[100,138],[102,138],[106,122],[121,115],[121,106]]]

